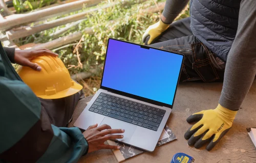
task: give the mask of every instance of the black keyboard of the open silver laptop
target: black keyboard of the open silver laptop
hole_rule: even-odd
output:
[[[89,111],[157,131],[165,110],[100,93]]]

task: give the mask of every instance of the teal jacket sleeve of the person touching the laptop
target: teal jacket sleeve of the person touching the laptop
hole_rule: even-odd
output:
[[[51,125],[32,90],[0,76],[0,162],[77,162],[88,144],[76,128]]]

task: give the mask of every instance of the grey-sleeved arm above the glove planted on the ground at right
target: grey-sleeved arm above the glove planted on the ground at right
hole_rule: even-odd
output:
[[[256,73],[256,1],[244,0],[239,11],[236,38],[229,51],[219,103],[239,110]]]

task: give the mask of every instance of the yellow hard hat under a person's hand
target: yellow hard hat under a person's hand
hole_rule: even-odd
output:
[[[41,71],[20,66],[17,73],[37,97],[57,99],[73,95],[82,86],[71,79],[68,69],[57,57],[40,56],[31,60],[38,64]]]

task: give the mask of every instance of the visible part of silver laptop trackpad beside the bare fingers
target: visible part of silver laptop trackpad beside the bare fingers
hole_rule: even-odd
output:
[[[109,125],[112,129],[124,129],[124,133],[121,133],[123,135],[123,139],[118,139],[118,141],[122,141],[125,143],[129,143],[131,140],[134,131],[136,130],[137,126],[115,120],[112,118],[105,117],[103,121],[101,122],[100,126],[103,124]],[[119,133],[118,133],[119,134]]]

